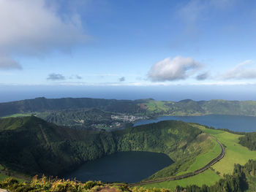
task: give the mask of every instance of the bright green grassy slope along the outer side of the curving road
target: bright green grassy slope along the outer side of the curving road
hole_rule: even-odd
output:
[[[213,172],[211,169],[208,169],[206,172],[197,174],[194,177],[189,177],[184,180],[166,181],[162,183],[143,185],[143,187],[175,189],[176,185],[181,185],[183,187],[190,184],[199,185],[199,186],[203,184],[213,185],[221,178],[218,174],[216,174],[216,172],[220,172],[221,175],[232,174],[234,169],[234,164],[244,165],[249,159],[256,159],[256,151],[251,151],[247,147],[244,147],[238,144],[239,142],[238,138],[241,137],[241,135],[231,134],[226,131],[208,129],[208,128],[205,128],[204,126],[197,126],[197,127],[200,128],[202,131],[210,134],[212,137],[215,137],[216,139],[218,139],[226,147],[225,157],[222,158],[222,160],[220,160],[219,162],[217,162],[217,164],[214,164],[214,166],[212,166],[215,172]],[[198,158],[198,160],[195,161],[195,163],[192,164],[192,166],[198,166],[199,164],[197,164],[196,162],[200,162],[200,161],[202,161],[202,159]],[[192,166],[190,166],[189,169],[192,169]],[[254,182],[254,180],[252,180],[252,182]]]

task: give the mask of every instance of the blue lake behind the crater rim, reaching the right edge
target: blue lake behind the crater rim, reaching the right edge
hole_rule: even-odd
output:
[[[256,117],[241,115],[164,116],[154,120],[140,120],[134,126],[157,123],[162,120],[182,120],[184,122],[200,123],[214,128],[228,128],[232,131],[256,131]]]

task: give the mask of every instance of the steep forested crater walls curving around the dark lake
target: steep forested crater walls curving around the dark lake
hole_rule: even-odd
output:
[[[172,172],[154,175],[154,178],[167,177],[179,170],[186,171],[189,164],[183,166],[184,162],[195,161],[205,146],[212,145],[206,145],[212,141],[201,134],[200,129],[181,121],[163,121],[112,132],[60,127],[34,116],[0,119],[0,125],[3,125],[0,164],[26,174],[61,175],[103,155],[149,151],[165,153],[176,161],[169,167]]]

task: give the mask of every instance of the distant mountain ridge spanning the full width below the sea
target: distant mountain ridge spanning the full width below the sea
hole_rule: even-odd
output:
[[[249,115],[256,116],[256,101],[155,101],[154,99],[116,100],[91,98],[26,99],[0,103],[0,117],[24,112],[99,109],[140,115]]]

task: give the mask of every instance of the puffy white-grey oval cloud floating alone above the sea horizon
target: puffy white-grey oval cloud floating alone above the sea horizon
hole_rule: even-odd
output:
[[[157,62],[148,72],[151,81],[184,80],[200,69],[202,65],[193,58],[165,58]]]

